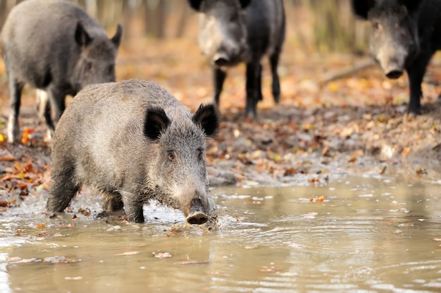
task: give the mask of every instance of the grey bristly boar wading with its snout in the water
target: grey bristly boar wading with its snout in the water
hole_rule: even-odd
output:
[[[104,194],[104,209],[125,208],[144,223],[149,199],[178,208],[187,223],[216,219],[205,166],[205,139],[214,137],[216,106],[191,116],[153,82],[91,85],[69,104],[52,139],[47,209],[61,212],[82,185]]]

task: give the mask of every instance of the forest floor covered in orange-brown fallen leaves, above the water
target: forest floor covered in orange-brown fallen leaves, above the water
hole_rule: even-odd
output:
[[[367,56],[310,54],[285,45],[279,73],[280,104],[271,96],[263,61],[263,101],[256,120],[244,120],[244,66],[228,72],[221,95],[221,131],[208,142],[212,186],[316,185],[333,175],[426,176],[439,180],[441,58],[423,82],[422,115],[406,116],[408,81],[386,80],[378,66],[324,80],[368,61]],[[194,112],[211,101],[211,72],[194,39],[144,40],[120,48],[117,80],[153,80]],[[35,92],[27,89],[20,113],[21,144],[6,142],[8,89],[0,63],[0,206],[18,195],[47,192],[49,144],[38,123]],[[1,137],[0,137],[1,140]]]

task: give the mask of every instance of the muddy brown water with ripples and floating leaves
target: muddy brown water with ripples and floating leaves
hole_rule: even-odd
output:
[[[0,216],[0,292],[440,292],[439,183],[217,188],[213,231],[156,204],[96,218],[87,197],[49,219],[35,195]]]

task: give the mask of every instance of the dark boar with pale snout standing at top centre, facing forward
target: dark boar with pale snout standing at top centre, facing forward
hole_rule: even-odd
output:
[[[200,12],[199,46],[213,68],[214,101],[219,104],[226,68],[247,63],[245,116],[254,118],[262,99],[261,58],[267,54],[273,74],[273,98],[280,99],[277,73],[285,39],[282,0],[189,0]]]

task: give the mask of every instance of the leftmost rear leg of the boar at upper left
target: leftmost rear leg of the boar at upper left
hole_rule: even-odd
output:
[[[8,142],[13,143],[20,134],[20,127],[18,127],[18,115],[20,113],[20,99],[23,85],[16,81],[12,73],[8,73],[9,86],[9,119],[8,119]]]

